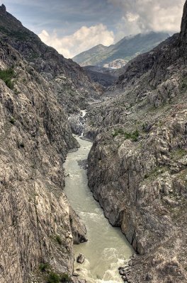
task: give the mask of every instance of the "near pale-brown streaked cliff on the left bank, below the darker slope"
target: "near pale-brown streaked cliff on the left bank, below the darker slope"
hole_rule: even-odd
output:
[[[46,282],[40,264],[71,275],[73,242],[86,241],[63,193],[62,164],[77,141],[51,81],[9,41],[0,42],[0,281]]]

